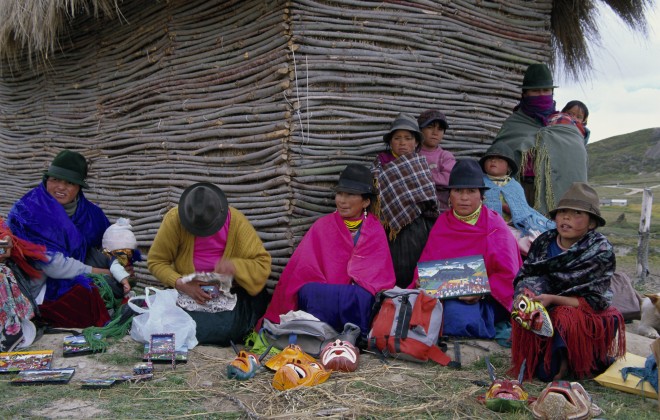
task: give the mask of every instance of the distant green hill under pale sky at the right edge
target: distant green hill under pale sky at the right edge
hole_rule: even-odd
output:
[[[648,128],[587,145],[589,179],[660,173],[660,128]]]

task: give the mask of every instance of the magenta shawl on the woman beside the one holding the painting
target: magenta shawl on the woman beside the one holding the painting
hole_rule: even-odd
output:
[[[265,318],[279,323],[281,314],[296,310],[298,290],[307,283],[355,283],[375,295],[394,287],[395,281],[387,236],[378,219],[368,215],[354,246],[344,219],[335,212],[314,222],[298,245],[277,282]]]

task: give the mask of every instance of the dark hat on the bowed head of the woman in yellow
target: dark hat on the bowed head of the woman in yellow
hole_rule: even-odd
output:
[[[183,191],[179,199],[179,220],[195,236],[211,236],[227,220],[229,204],[220,188],[209,182],[198,182]]]

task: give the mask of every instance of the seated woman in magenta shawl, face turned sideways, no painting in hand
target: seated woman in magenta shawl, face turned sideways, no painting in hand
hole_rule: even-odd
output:
[[[280,315],[302,310],[338,331],[356,324],[366,337],[373,296],[395,283],[392,258],[385,230],[367,211],[374,191],[369,169],[348,165],[335,191],[337,211],[300,242],[264,317],[279,324]]]

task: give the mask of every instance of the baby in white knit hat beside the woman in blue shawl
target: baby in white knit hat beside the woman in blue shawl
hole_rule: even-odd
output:
[[[117,219],[103,234],[102,245],[103,253],[112,260],[112,277],[122,285],[126,295],[134,280],[133,263],[141,260],[131,221],[123,217]]]

